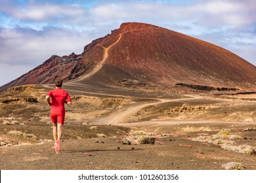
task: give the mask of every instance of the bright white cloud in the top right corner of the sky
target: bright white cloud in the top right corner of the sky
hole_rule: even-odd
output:
[[[253,24],[256,21],[256,11],[251,6],[255,1],[199,1],[192,5],[195,13],[198,12],[198,24],[209,26],[211,24],[221,26],[243,26]]]

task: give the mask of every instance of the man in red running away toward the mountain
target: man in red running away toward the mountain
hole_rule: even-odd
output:
[[[62,79],[55,80],[55,90],[51,90],[47,96],[47,103],[51,106],[51,120],[53,122],[53,138],[55,152],[60,152],[60,139],[62,137],[62,127],[65,119],[64,104],[71,105],[72,101],[68,92],[62,90]]]

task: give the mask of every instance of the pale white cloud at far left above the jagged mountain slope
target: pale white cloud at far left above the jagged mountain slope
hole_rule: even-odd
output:
[[[53,54],[81,54],[83,46],[89,44],[91,39],[86,33],[53,27],[43,31],[24,28],[2,29],[0,63],[37,66]]]

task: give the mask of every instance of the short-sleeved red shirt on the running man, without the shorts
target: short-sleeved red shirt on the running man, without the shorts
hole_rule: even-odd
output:
[[[65,111],[65,101],[71,102],[70,95],[68,92],[62,90],[61,88],[56,88],[55,90],[51,90],[47,95],[49,95],[52,99],[51,111]]]

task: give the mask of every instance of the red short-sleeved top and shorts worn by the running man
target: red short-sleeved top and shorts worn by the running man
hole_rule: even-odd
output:
[[[51,90],[47,95],[51,97],[51,119],[54,124],[64,124],[66,101],[71,102],[68,92],[61,88]]]

